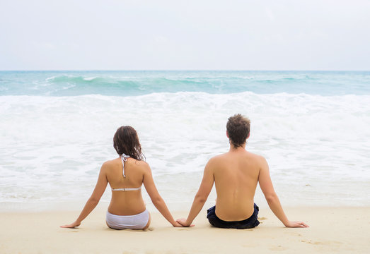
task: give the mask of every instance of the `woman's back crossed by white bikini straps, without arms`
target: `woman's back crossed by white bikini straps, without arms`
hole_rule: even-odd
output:
[[[146,162],[128,158],[123,163],[125,170],[123,170],[121,158],[105,162],[107,180],[110,188],[112,188],[112,198],[108,212],[116,215],[139,214],[146,210],[141,196]],[[126,177],[123,176],[124,174]]]

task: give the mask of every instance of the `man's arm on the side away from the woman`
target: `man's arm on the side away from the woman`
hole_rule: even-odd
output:
[[[258,182],[260,183],[261,190],[265,195],[267,203],[276,215],[276,217],[287,227],[308,227],[304,222],[291,222],[285,215],[280,200],[274,191],[274,186],[272,186],[272,181],[270,177],[269,166],[265,158],[262,158],[260,175],[258,176]]]

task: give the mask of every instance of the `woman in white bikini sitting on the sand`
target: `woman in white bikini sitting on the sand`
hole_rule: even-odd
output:
[[[147,229],[149,227],[150,214],[141,196],[143,183],[151,201],[163,217],[173,226],[181,226],[175,222],[156,189],[149,164],[143,161],[144,155],[141,153],[141,145],[134,128],[131,126],[118,128],[113,138],[113,146],[120,157],[103,164],[98,183],[81,214],[75,222],[62,227],[79,226],[98,205],[108,183],[112,188],[112,199],[108,207],[106,222],[111,229]]]

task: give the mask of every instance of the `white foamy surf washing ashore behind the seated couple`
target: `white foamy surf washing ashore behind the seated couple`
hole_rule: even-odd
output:
[[[122,125],[137,129],[163,198],[191,202],[207,160],[228,150],[227,118],[241,113],[252,121],[248,150],[267,158],[283,203],[370,205],[369,102],[253,92],[1,96],[0,202],[88,198],[100,165],[117,156],[112,136]]]

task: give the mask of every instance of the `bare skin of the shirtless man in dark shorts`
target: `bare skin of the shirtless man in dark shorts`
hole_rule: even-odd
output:
[[[289,221],[272,186],[266,159],[245,150],[245,143],[241,147],[230,145],[229,152],[209,159],[187,219],[178,219],[177,222],[191,226],[207,201],[214,183],[217,217],[228,222],[247,219],[254,211],[258,182],[272,212],[285,226],[308,227],[304,222]]]

